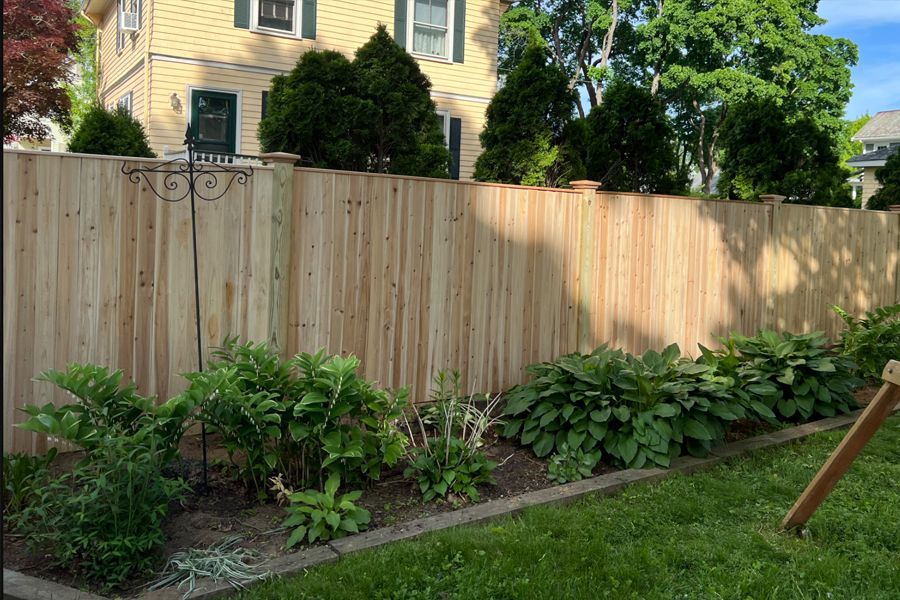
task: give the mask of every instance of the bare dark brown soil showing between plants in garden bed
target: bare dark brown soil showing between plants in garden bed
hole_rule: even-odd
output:
[[[865,405],[874,397],[878,388],[868,386],[856,393],[857,401]],[[771,432],[775,427],[757,422],[736,422],[726,436],[733,442]],[[489,501],[525,492],[544,489],[553,485],[547,479],[547,461],[535,457],[530,449],[517,446],[510,440],[489,439],[485,449],[488,457],[498,463],[494,470],[495,486],[479,489],[481,501]],[[160,565],[165,557],[185,548],[205,548],[230,536],[241,536],[241,545],[258,551],[263,557],[285,554],[284,544],[289,532],[280,524],[285,518],[284,509],[275,502],[258,502],[236,480],[235,469],[228,462],[227,454],[218,444],[216,436],[209,436],[209,488],[208,492],[188,494],[181,505],[173,505],[164,526],[168,542],[160,551]],[[202,446],[200,436],[186,436],[182,441],[182,458],[168,467],[172,475],[179,475],[199,489],[202,480]],[[73,452],[57,457],[54,469],[62,471],[80,458]],[[609,473],[615,468],[600,464],[595,475]],[[467,504],[462,498],[450,498],[423,503],[418,486],[403,477],[402,468],[383,473],[382,478],[365,490],[357,504],[372,513],[370,529],[402,524],[421,517],[448,512]],[[3,566],[35,577],[58,583],[91,589],[91,586],[65,570],[53,566],[49,557],[34,555],[28,551],[24,540],[4,527]],[[118,591],[118,595],[137,595],[150,580],[135,581],[131,589]],[[96,590],[94,590],[96,591]]]

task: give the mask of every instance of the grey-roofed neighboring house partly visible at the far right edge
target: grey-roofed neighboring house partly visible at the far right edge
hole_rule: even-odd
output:
[[[850,183],[854,192],[862,194],[861,205],[865,208],[872,194],[881,187],[875,171],[883,167],[894,152],[900,151],[900,110],[877,113],[856,132],[853,140],[862,142],[863,153],[847,161],[848,165],[861,171]]]

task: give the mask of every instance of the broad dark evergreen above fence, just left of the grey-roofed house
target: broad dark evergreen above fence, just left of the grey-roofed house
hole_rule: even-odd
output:
[[[725,120],[719,191],[726,197],[780,194],[798,204],[850,207],[848,175],[829,132],[783,104],[745,102]]]

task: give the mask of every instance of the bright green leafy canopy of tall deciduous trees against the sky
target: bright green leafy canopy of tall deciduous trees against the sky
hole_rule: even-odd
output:
[[[767,99],[811,116],[838,144],[856,46],[813,33],[818,0],[523,0],[502,20],[501,66],[540,35],[589,105],[624,78],[673,114],[704,191],[731,106]],[[580,108],[586,114],[584,107]],[[685,154],[685,156],[687,156]]]

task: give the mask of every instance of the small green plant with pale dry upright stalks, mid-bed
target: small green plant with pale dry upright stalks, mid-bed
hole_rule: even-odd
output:
[[[497,463],[488,460],[480,448],[485,432],[500,421],[494,416],[500,396],[489,400],[484,409],[479,409],[476,402],[474,395],[443,399],[435,405],[438,412],[432,426],[425,424],[419,409],[413,405],[420,438],[416,440],[407,419],[410,439],[419,445],[410,449],[404,476],[416,477],[425,502],[450,493],[478,502],[481,495],[477,486],[495,483],[491,472]]]

